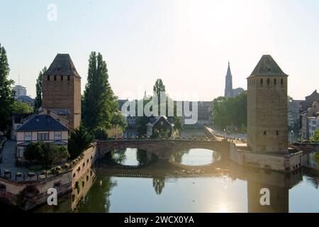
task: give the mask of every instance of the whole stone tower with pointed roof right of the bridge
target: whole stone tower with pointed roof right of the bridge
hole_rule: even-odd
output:
[[[254,152],[288,152],[287,81],[270,55],[247,78],[247,145]]]

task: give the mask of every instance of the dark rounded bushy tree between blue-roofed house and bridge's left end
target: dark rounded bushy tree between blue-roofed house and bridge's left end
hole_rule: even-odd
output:
[[[81,124],[79,128],[74,128],[69,136],[68,150],[72,159],[78,157],[85,150],[91,148],[94,137]]]

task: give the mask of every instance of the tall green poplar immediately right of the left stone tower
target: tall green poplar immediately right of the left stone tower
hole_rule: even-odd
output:
[[[113,128],[119,123],[118,102],[108,82],[108,70],[101,53],[91,52],[89,70],[83,99],[84,126],[90,131],[95,128]]]

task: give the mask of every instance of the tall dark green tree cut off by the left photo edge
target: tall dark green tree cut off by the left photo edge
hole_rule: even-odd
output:
[[[15,92],[11,88],[13,80],[8,79],[10,72],[6,50],[0,44],[0,131],[9,131],[14,109]]]

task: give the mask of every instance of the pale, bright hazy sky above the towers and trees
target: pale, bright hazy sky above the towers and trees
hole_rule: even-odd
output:
[[[0,0],[0,43],[9,77],[35,96],[38,72],[69,53],[85,88],[91,51],[101,52],[120,99],[152,94],[161,78],[176,100],[223,96],[269,54],[289,74],[289,95],[319,88],[318,0]]]

